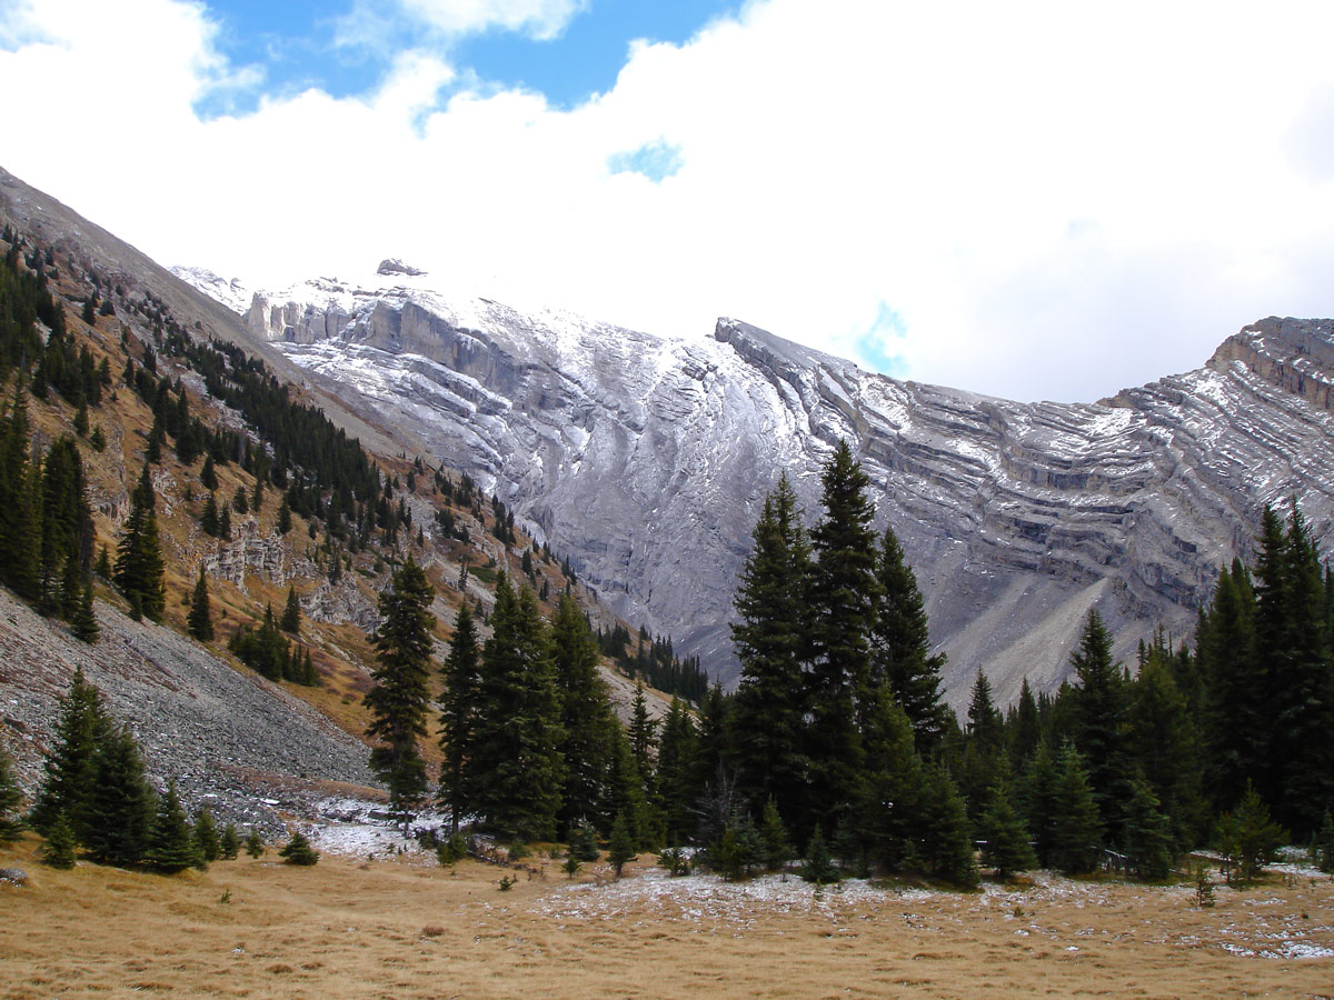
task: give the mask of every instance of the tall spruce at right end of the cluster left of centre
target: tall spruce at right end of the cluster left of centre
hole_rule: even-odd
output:
[[[560,597],[551,624],[551,655],[560,697],[559,749],[566,764],[558,820],[563,829],[591,821],[607,831],[615,815],[611,804],[615,719],[607,685],[598,673],[598,643],[568,593]]]

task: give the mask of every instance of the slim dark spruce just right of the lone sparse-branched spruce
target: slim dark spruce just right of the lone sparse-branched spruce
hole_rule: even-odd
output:
[[[440,692],[440,804],[450,811],[450,832],[459,832],[459,821],[472,808],[475,769],[474,739],[480,711],[478,629],[467,601],[459,607],[454,624],[454,641],[444,660],[444,689]]]

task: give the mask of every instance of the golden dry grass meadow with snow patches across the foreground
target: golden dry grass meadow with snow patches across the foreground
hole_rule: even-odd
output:
[[[1221,891],[1071,884],[1013,892],[619,883],[325,857],[227,861],[176,877],[0,864],[0,995],[248,997],[1011,997],[1334,992],[1327,879]],[[269,856],[271,857],[271,856]],[[596,865],[588,871],[595,872]],[[229,891],[228,903],[221,903]],[[1022,907],[1022,916],[1015,916]],[[1233,953],[1226,947],[1254,952]]]

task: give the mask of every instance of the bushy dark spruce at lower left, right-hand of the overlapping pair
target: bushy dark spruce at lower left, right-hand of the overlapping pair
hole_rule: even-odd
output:
[[[144,761],[129,727],[109,728],[97,753],[87,835],[95,861],[131,865],[143,860],[153,828],[156,796],[144,777]]]

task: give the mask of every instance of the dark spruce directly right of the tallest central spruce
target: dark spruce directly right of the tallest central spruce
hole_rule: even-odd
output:
[[[876,577],[880,600],[871,632],[872,676],[890,685],[912,724],[918,751],[926,752],[943,735],[950,711],[940,701],[944,653],[930,652],[922,591],[892,528],[884,529]]]

